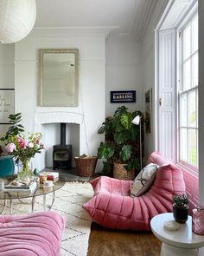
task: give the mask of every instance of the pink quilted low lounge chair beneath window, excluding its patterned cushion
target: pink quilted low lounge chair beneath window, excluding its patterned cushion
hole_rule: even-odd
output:
[[[156,181],[145,194],[131,198],[132,181],[101,176],[91,181],[94,195],[83,207],[93,221],[112,229],[150,230],[150,220],[159,213],[172,212],[173,194],[185,193],[182,170],[158,152],[148,163],[159,165]]]

